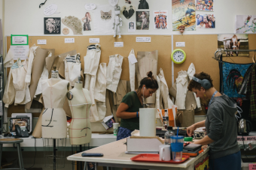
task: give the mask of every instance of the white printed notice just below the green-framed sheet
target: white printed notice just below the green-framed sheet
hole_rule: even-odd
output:
[[[21,60],[26,60],[29,55],[29,45],[26,46],[10,46],[12,55],[14,56],[14,60],[20,58]]]

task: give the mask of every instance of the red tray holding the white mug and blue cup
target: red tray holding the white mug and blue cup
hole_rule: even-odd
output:
[[[137,162],[150,162],[150,163],[184,163],[189,156],[182,155],[182,160],[179,162],[176,162],[174,160],[170,161],[162,161],[159,160],[159,154],[139,154],[135,157],[132,157],[131,160],[137,161]]]

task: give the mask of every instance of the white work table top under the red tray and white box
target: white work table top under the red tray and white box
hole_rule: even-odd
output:
[[[171,164],[171,163],[143,163],[143,162],[134,162],[130,160],[130,158],[135,157],[137,154],[125,154],[126,139],[121,139],[117,142],[111,142],[107,145],[99,146],[98,148],[93,148],[88,151],[87,153],[102,153],[104,157],[81,157],[82,153],[74,154],[69,156],[68,160],[75,160],[75,161],[83,161],[83,162],[94,162],[99,163],[99,165],[117,165],[119,167],[137,167],[143,169],[169,169],[170,167],[174,169],[187,169],[189,166],[194,167],[195,161],[199,160],[205,154],[208,154],[209,148],[207,148],[202,154],[198,157],[190,157],[189,160],[185,161],[181,164]],[[133,166],[133,167],[132,167]],[[117,167],[117,166],[116,166]]]

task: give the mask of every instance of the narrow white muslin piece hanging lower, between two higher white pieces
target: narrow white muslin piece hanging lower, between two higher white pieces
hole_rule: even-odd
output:
[[[99,64],[99,69],[97,72],[94,98],[97,102],[105,102],[105,93],[107,90],[107,64]]]

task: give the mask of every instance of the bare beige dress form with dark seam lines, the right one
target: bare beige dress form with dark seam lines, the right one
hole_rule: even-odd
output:
[[[75,87],[68,92],[69,108],[72,112],[72,121],[69,126],[69,140],[71,145],[84,145],[90,143],[92,136],[90,126],[90,92],[83,88],[81,76]]]

